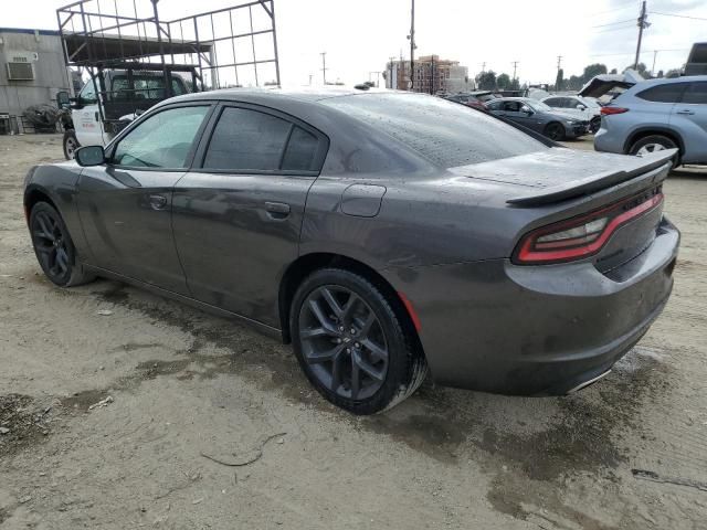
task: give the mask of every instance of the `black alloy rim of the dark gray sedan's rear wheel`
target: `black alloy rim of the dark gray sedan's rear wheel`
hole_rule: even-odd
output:
[[[389,351],[381,322],[352,290],[325,285],[299,311],[303,358],[315,378],[349,400],[366,400],[386,381]]]

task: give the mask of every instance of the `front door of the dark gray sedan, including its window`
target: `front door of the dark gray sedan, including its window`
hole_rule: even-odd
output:
[[[78,208],[95,265],[189,295],[172,236],[172,189],[210,110],[208,104],[159,109],[110,146],[107,163],[84,168]]]

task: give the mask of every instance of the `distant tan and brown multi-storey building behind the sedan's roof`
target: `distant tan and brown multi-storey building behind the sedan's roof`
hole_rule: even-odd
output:
[[[410,89],[410,61],[392,61],[386,72],[386,87],[398,91]],[[458,61],[423,55],[415,59],[412,89],[425,94],[466,92],[474,89],[468,78],[468,68]]]

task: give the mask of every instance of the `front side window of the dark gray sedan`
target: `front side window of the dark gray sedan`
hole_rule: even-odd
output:
[[[154,114],[118,142],[113,163],[133,168],[186,168],[208,112],[208,106],[193,106]]]

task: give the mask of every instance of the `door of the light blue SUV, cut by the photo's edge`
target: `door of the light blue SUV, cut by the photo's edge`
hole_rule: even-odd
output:
[[[707,162],[707,82],[692,82],[673,107],[671,126],[685,145],[685,162]]]

